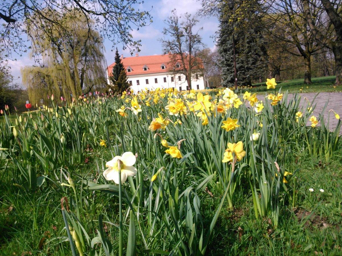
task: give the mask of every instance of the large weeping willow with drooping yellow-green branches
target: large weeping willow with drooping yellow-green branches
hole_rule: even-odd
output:
[[[50,18],[41,20],[39,29],[27,23],[32,57],[38,64],[21,70],[31,103],[47,100],[48,94],[70,101],[71,97],[105,87],[104,46],[98,32],[89,28],[89,20],[77,10],[45,12]]]

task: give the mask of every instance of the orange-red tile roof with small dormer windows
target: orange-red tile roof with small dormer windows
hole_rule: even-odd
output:
[[[127,71],[127,68],[131,68],[131,72],[127,72],[127,75],[141,75],[152,73],[165,73],[170,71],[171,54],[162,55],[149,55],[149,56],[136,56],[136,57],[124,57],[121,58],[121,62]],[[161,69],[161,65],[165,65],[165,69]],[[145,65],[147,70],[144,70]],[[109,76],[112,76],[112,70],[115,66],[115,62],[107,67]],[[172,69],[171,69],[172,70]]]

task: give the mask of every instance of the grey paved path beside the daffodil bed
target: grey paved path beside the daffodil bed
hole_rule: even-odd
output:
[[[307,98],[310,102],[314,99],[316,93],[301,93],[301,103],[300,106],[304,104],[304,98]],[[289,94],[289,98],[293,97],[294,94]],[[265,95],[259,94],[258,99],[263,100]],[[314,104],[316,104],[316,108],[313,112],[313,115],[318,117],[318,114],[321,113],[321,111],[324,108],[325,103],[328,101],[328,105],[324,111],[324,118],[327,119],[329,116],[329,110],[333,109],[336,113],[340,115],[342,118],[342,93],[319,93],[318,96],[316,97]],[[329,117],[329,129],[333,130],[338,123],[338,119],[335,118],[335,115],[333,112],[330,112],[330,117]],[[310,122],[308,122],[310,124]],[[342,132],[342,129],[341,131]]]

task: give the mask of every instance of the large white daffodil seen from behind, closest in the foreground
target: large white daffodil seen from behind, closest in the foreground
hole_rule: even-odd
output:
[[[137,170],[133,166],[135,163],[135,156],[132,152],[125,152],[122,156],[116,156],[112,160],[106,162],[107,170],[103,172],[103,176],[107,181],[114,181],[119,184],[119,165],[120,160],[121,182],[124,183],[128,176],[135,176]]]

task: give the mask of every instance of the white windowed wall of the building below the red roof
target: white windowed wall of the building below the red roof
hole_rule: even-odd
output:
[[[181,76],[181,81],[179,81],[179,76]],[[164,82],[164,77],[166,82]],[[129,75],[127,72],[127,80],[132,82],[131,89],[134,93],[141,91],[143,89],[155,90],[157,88],[177,88],[177,90],[187,90],[188,83],[185,81],[185,76],[182,74],[176,74],[174,76],[174,81],[171,81],[171,73],[155,73],[155,74],[141,74],[141,75]],[[146,84],[146,79],[148,79],[148,84]],[[157,83],[155,82],[157,79]],[[139,85],[137,84],[139,80]],[[199,76],[198,79],[193,78],[191,80],[192,89],[203,90],[204,89],[204,79]]]

